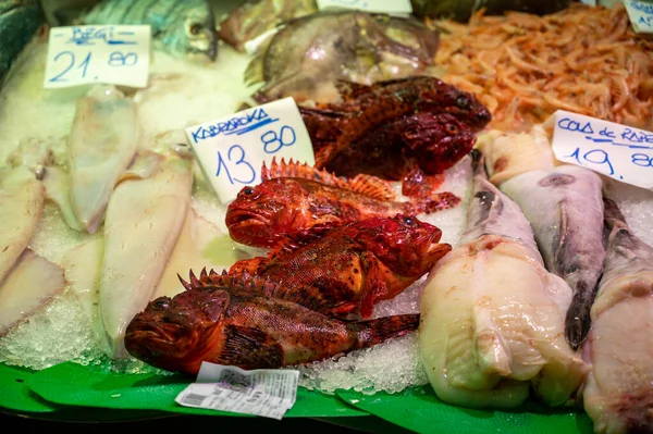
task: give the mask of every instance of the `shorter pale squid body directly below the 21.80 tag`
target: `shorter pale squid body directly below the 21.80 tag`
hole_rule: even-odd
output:
[[[77,101],[67,146],[71,207],[79,227],[94,234],[138,148],[136,104],[113,86],[94,86]]]

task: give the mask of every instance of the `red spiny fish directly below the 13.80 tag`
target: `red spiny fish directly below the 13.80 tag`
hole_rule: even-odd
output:
[[[263,165],[261,177],[261,184],[244,187],[226,209],[230,236],[248,246],[274,247],[288,239],[304,244],[360,219],[431,213],[460,202],[447,191],[396,201],[392,186],[378,177],[337,177],[292,161],[273,161],[269,170]]]

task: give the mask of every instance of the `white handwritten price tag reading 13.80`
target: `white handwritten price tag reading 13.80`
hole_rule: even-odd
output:
[[[199,165],[224,204],[261,183],[273,158],[313,165],[312,145],[292,97],[185,129]]]

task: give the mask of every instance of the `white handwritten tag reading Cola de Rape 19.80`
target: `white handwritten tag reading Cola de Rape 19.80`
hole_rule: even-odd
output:
[[[559,161],[653,188],[653,133],[564,110],[544,125],[554,128],[553,152]]]

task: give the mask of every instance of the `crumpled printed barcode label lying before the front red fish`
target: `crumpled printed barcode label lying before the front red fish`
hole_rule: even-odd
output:
[[[257,369],[202,362],[197,382],[176,397],[185,407],[207,408],[281,420],[297,397],[299,371]]]

